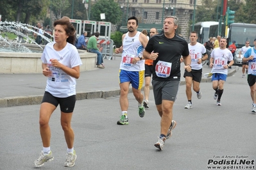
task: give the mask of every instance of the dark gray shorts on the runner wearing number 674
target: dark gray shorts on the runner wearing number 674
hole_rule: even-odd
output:
[[[180,81],[152,81],[155,104],[162,104],[162,100],[175,102]]]

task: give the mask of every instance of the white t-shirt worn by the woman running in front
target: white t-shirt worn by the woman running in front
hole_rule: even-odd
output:
[[[57,51],[53,48],[55,42],[47,43],[42,54],[42,63],[47,64],[53,72],[51,77],[48,77],[46,82],[46,91],[54,97],[70,97],[76,95],[76,79],[67,75],[60,68],[51,65],[51,59],[58,59],[62,65],[73,68],[81,65],[81,59],[78,50],[71,43],[67,43],[64,49]]]

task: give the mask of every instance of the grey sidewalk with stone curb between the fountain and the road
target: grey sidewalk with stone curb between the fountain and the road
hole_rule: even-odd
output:
[[[107,98],[119,95],[119,65],[121,56],[117,55],[112,60],[104,59],[105,68],[80,72],[80,78],[76,81],[76,98],[83,100],[87,98]],[[180,85],[185,84],[182,77]],[[237,72],[238,66],[228,69],[228,76]],[[203,74],[209,73],[211,68],[203,66]],[[210,79],[202,77],[201,82],[211,82]],[[46,88],[46,77],[42,73],[27,74],[1,74],[0,75],[0,107],[11,107],[16,105],[40,104]],[[131,88],[131,86],[130,86]]]

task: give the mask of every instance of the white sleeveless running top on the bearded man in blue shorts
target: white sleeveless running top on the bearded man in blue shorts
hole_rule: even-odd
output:
[[[141,32],[137,32],[137,34],[133,37],[128,36],[128,33],[124,36],[123,39],[123,53],[122,53],[122,61],[120,63],[120,69],[132,72],[139,72],[141,70],[145,70],[145,60],[142,59],[138,61],[135,65],[132,63],[133,58],[137,58],[139,56],[142,57],[142,52],[144,50],[143,45],[139,40],[139,35]]]

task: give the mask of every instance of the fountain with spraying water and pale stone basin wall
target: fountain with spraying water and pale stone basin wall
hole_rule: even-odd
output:
[[[0,73],[42,73],[42,50],[45,45],[38,45],[35,40],[22,33],[25,30],[27,33],[37,33],[34,31],[36,27],[21,22],[0,21],[0,31],[15,33],[17,36],[28,38],[33,43],[13,43],[8,42],[4,38],[0,38]],[[47,42],[52,42],[44,35],[38,35],[44,38]],[[36,50],[36,52],[32,52]],[[80,66],[80,71],[92,70],[96,68],[97,54],[78,50],[83,65]]]

